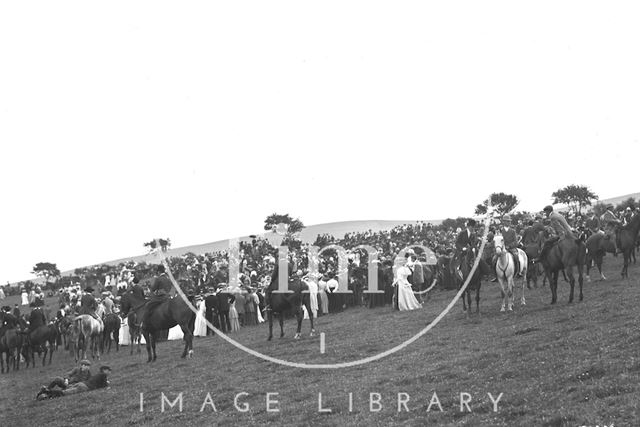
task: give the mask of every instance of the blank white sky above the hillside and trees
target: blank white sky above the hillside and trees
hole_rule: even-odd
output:
[[[305,224],[639,191],[633,2],[0,4],[0,283]]]

